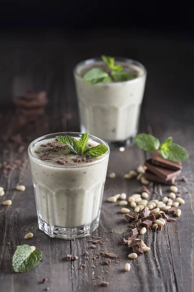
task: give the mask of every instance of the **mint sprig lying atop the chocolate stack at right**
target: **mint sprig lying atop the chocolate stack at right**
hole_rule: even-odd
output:
[[[142,133],[135,136],[135,143],[141,149],[147,152],[156,152],[160,149],[161,156],[164,159],[173,162],[185,161],[189,157],[187,150],[178,144],[172,143],[172,141],[173,138],[168,137],[160,144],[159,140],[152,135]]]

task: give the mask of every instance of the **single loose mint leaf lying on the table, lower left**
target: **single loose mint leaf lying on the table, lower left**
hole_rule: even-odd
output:
[[[42,259],[42,253],[38,250],[32,252],[30,245],[19,245],[14,253],[12,266],[16,273],[24,273],[31,270]]]

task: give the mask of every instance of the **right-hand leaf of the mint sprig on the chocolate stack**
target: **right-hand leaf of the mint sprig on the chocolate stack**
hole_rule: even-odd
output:
[[[173,162],[181,162],[189,157],[188,152],[185,148],[174,143],[169,145],[168,148],[162,149],[161,156]]]

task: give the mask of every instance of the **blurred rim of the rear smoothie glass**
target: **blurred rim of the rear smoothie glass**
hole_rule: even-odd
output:
[[[111,84],[111,85],[115,86],[115,85],[120,84],[120,83],[131,83],[131,82],[134,82],[136,80],[139,80],[139,79],[141,79],[141,78],[143,78],[143,77],[145,77],[147,75],[146,67],[142,63],[140,63],[139,61],[136,61],[134,59],[125,58],[125,57],[114,57],[114,59],[115,59],[115,62],[117,62],[117,60],[118,60],[118,61],[121,61],[121,62],[125,62],[126,64],[134,64],[134,65],[137,65],[138,67],[140,67],[141,69],[143,69],[143,74],[141,76],[138,76],[138,77],[136,77],[134,79],[127,80],[127,81],[107,82],[107,83],[101,83],[101,82],[99,82],[99,83],[94,84],[92,86],[98,86],[99,84]],[[99,61],[102,61],[103,62],[103,60],[101,59],[101,57],[90,58],[90,59],[86,59],[86,60],[83,60],[83,61],[79,62],[78,64],[76,64],[76,66],[73,69],[74,76],[77,76],[78,78],[83,79],[81,77],[81,75],[77,72],[78,67],[84,66],[84,65],[94,64],[95,62],[99,62]]]

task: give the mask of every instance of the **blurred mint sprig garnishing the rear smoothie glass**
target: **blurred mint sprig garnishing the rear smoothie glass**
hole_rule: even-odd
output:
[[[124,70],[122,65],[114,65],[114,57],[102,55],[101,58],[108,67],[109,72],[101,68],[92,68],[84,74],[84,82],[95,85],[97,83],[128,81],[136,78],[135,74]]]

